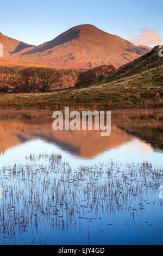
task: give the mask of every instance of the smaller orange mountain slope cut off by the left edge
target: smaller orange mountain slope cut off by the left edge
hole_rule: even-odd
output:
[[[28,45],[25,42],[18,41],[16,39],[10,38],[9,36],[3,35],[0,32],[0,44],[3,45],[3,55],[11,56],[11,54],[20,52],[25,48],[29,48],[33,45]]]

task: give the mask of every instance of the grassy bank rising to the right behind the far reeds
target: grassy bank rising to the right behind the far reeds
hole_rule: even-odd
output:
[[[109,78],[82,89],[52,93],[1,94],[0,108],[156,108],[163,107],[163,65],[140,74]]]

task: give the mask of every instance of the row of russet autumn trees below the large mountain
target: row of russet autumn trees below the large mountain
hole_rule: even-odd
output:
[[[112,65],[101,65],[89,70],[0,67],[0,92],[45,93],[57,88],[86,87],[100,82],[114,71],[115,68]]]

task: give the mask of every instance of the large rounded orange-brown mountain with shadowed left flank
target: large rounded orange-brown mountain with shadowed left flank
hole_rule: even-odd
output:
[[[93,68],[103,64],[119,68],[147,52],[149,49],[145,46],[135,46],[120,36],[106,33],[89,24],[68,29],[52,41],[39,46],[26,47],[21,42],[17,48],[8,50],[10,57],[19,62],[65,68]]]

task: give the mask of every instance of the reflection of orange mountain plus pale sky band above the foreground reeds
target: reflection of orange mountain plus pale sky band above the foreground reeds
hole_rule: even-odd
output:
[[[111,135],[100,131],[53,131],[52,122],[0,122],[0,164],[24,160],[29,154],[61,153],[73,166],[106,162],[150,161],[162,166],[162,130],[156,127],[111,126]]]

